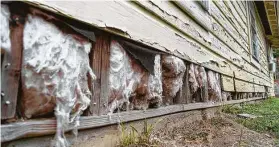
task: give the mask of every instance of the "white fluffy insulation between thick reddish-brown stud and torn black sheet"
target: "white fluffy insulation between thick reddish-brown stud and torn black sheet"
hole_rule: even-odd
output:
[[[132,68],[131,62],[122,46],[118,42],[112,41],[109,73],[110,98],[112,102],[109,106],[109,114],[124,103],[129,105],[129,97],[135,92],[137,85],[141,81],[143,75],[140,74],[140,68]]]

